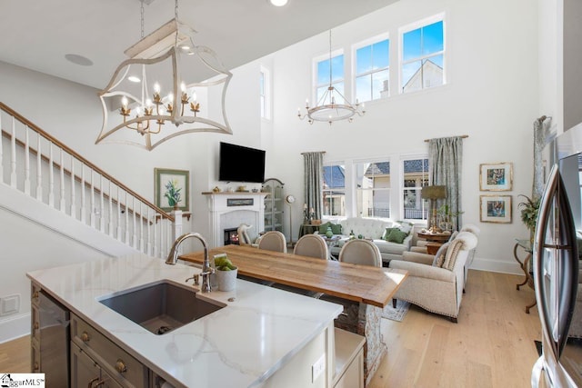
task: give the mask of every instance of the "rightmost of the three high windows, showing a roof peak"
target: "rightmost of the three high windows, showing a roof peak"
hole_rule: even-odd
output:
[[[443,20],[402,34],[402,93],[443,85]]]

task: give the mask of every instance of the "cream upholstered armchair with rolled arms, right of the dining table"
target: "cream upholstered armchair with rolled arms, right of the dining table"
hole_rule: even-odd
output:
[[[446,315],[457,322],[465,285],[465,264],[469,251],[477,246],[477,236],[459,232],[453,241],[443,244],[436,256],[405,252],[403,260],[392,260],[390,268],[408,271],[396,294],[396,300],[416,304],[423,309]]]

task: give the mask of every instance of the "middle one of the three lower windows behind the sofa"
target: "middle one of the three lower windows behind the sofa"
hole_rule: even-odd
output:
[[[364,162],[356,167],[357,214],[390,217],[390,162]]]

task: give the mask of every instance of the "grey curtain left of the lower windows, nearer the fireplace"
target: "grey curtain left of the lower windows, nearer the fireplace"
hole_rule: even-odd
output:
[[[307,209],[314,210],[316,220],[321,220],[324,185],[323,152],[304,153],[305,202]],[[308,214],[309,215],[309,214]]]

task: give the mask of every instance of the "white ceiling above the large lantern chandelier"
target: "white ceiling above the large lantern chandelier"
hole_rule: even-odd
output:
[[[196,29],[197,45],[214,49],[232,69],[396,1],[289,0],[275,7],[267,0],[181,0],[178,17]],[[145,35],[174,17],[174,5],[155,0],[145,6]],[[139,0],[0,3],[0,61],[98,89],[140,35]],[[75,65],[67,54],[85,56],[93,65]]]

